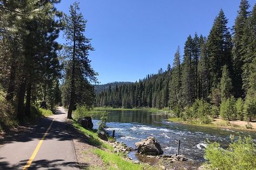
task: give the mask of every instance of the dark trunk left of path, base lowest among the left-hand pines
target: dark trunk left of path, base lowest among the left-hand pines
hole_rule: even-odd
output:
[[[19,93],[18,93],[18,105],[17,105],[17,118],[20,122],[23,121],[24,118],[24,98],[26,91],[26,80],[23,79],[21,84],[19,85]]]

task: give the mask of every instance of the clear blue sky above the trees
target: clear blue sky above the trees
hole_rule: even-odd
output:
[[[58,10],[68,13],[74,1],[62,0]],[[101,84],[135,82],[166,69],[189,34],[207,36],[222,8],[228,26],[234,24],[240,0],[80,0],[88,20],[85,35],[92,38],[92,67]],[[252,6],[256,0],[249,1]],[[59,39],[60,42],[64,42]]]

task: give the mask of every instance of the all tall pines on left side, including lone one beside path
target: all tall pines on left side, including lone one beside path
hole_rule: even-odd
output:
[[[95,96],[89,80],[96,80],[96,73],[87,58],[93,48],[83,35],[86,20],[78,3],[71,5],[70,15],[66,15],[55,8],[59,2],[0,1],[0,90],[20,122],[38,105],[52,109],[69,100],[73,110],[77,100],[85,103]],[[57,42],[62,30],[64,45]],[[78,89],[85,87],[87,98],[81,98]],[[76,95],[80,98],[74,99]]]

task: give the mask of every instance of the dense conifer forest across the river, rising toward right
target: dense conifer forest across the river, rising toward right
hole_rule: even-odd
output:
[[[221,9],[207,38],[197,33],[188,36],[183,58],[178,47],[173,67],[169,64],[167,70],[160,69],[139,82],[102,91],[96,105],[173,109],[200,99],[219,109],[232,96],[255,104],[256,5],[249,11],[250,4],[242,0],[239,8],[232,29]]]

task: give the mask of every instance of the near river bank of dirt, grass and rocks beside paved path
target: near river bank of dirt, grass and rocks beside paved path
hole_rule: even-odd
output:
[[[197,169],[201,165],[201,162],[192,160],[173,161],[166,156],[154,157],[138,153],[137,157],[140,161],[134,161],[122,149],[117,151],[117,146],[126,146],[125,144],[101,140],[95,131],[84,129],[76,122],[71,123],[79,131],[78,135],[84,136],[84,141],[73,140],[80,168],[127,170]]]

